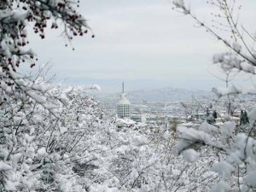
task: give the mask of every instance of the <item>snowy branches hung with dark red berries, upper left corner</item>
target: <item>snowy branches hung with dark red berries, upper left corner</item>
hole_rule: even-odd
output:
[[[0,83],[3,90],[8,86],[25,91],[18,73],[20,65],[33,67],[38,57],[28,47],[27,31],[32,26],[33,32],[45,38],[46,28],[63,28],[63,35],[72,40],[74,36],[83,36],[89,27],[76,8],[79,1],[69,0],[4,0],[0,6]],[[4,97],[4,96],[3,96]],[[4,102],[0,98],[0,103]]]

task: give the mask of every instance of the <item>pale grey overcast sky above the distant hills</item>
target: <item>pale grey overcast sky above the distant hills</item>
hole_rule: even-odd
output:
[[[65,47],[60,31],[47,32],[44,41],[32,35],[38,64],[53,65],[55,81],[64,84],[100,84],[102,92],[144,88],[197,88],[210,90],[224,84],[212,55],[224,50],[195,21],[172,10],[166,0],[83,0],[80,12],[96,38],[76,38]],[[203,0],[191,1],[191,8],[203,20],[210,9]],[[246,25],[256,26],[255,2],[244,11]],[[251,9],[250,9],[251,8]]]

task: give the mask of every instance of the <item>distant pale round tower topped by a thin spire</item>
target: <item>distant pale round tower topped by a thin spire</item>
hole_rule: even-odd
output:
[[[120,95],[120,100],[119,100],[118,106],[117,106],[118,117],[121,119],[130,118],[131,102],[129,102],[129,100],[125,96],[126,96],[125,85],[123,83],[123,90]]]

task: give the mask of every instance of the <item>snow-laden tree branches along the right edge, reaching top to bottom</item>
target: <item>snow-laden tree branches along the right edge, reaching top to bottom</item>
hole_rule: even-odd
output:
[[[226,45],[228,51],[214,55],[213,63],[218,63],[225,72],[236,71],[255,74],[255,34],[241,25],[238,14],[241,6],[238,1],[207,1],[210,6],[217,8],[212,14],[214,16],[210,21],[212,23],[198,18],[189,8],[187,2],[174,0],[173,3],[177,9],[182,10],[183,14],[190,15],[199,26],[207,29],[207,32]],[[223,96],[230,98],[230,96],[241,93],[241,90],[235,85],[214,88],[213,91],[219,98]],[[201,125],[197,129],[178,127],[177,135],[180,140],[173,150],[177,154],[186,153],[193,157],[196,156],[195,150],[202,146],[208,146],[208,148],[224,153],[218,163],[213,164],[210,168],[211,172],[218,173],[219,178],[218,182],[212,185],[210,191],[253,192],[256,189],[254,148],[256,140],[253,138],[256,125],[255,108],[248,113],[250,123],[247,124],[247,131],[235,133],[236,125],[230,117],[233,111],[230,101],[227,105],[228,113],[224,117],[224,125],[220,126],[219,129],[213,125]]]

